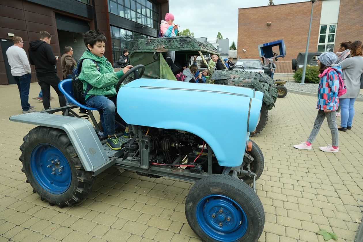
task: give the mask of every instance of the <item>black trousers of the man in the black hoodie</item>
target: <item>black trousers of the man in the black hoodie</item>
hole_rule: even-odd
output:
[[[45,77],[37,77],[38,78],[38,84],[43,92],[43,106],[45,110],[48,110],[50,108],[50,86],[53,87],[53,89],[58,94],[59,99],[59,105],[61,107],[66,106],[66,99],[64,97],[64,94],[61,93],[61,91],[58,88],[58,83],[61,81],[57,74],[51,74]]]

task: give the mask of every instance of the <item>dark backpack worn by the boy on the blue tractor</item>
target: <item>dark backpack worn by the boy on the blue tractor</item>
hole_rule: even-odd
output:
[[[72,75],[73,97],[74,97],[74,99],[76,99],[77,102],[79,102],[83,105],[86,105],[85,97],[86,97],[88,91],[93,88],[93,86],[91,84],[88,84],[86,91],[83,93],[83,83],[81,82],[81,80],[78,79],[78,76],[82,71],[82,63],[86,59],[93,61],[94,65],[96,66],[96,69],[99,71],[99,66],[98,66],[97,62],[95,62],[94,60],[89,59],[89,58],[79,60],[77,62],[77,64],[74,65],[74,67],[73,67],[73,75]]]

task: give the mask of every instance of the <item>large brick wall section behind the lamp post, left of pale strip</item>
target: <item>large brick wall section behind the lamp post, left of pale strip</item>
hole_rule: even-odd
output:
[[[314,3],[309,43],[309,51],[312,52],[317,51],[321,6],[321,0]],[[237,56],[259,59],[257,45],[284,39],[286,56],[278,60],[291,61],[299,52],[305,52],[310,13],[310,1],[238,9]]]

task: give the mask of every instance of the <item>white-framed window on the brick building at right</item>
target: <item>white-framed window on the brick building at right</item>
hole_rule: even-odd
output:
[[[320,25],[318,52],[334,51],[337,24]]]

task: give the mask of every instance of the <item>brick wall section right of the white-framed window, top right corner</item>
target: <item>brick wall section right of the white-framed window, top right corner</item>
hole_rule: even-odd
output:
[[[363,1],[340,0],[335,50],[344,41],[363,41]]]

